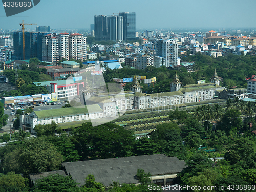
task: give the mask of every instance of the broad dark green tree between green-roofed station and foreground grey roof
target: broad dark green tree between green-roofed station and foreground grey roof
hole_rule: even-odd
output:
[[[131,152],[135,141],[130,130],[112,123],[95,127],[91,123],[83,123],[73,129],[71,135],[71,141],[82,159],[125,157]]]

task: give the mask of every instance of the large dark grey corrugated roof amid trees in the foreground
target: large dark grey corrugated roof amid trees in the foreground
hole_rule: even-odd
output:
[[[88,174],[93,174],[97,182],[109,186],[113,181],[120,183],[139,183],[136,179],[137,169],[141,168],[152,175],[175,174],[181,172],[185,162],[177,157],[167,157],[164,154],[122,157],[112,159],[97,159],[62,163],[72,179],[76,179],[79,186],[84,185]]]

